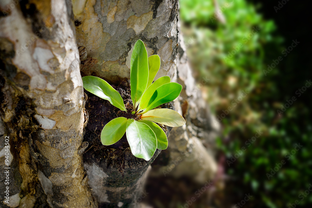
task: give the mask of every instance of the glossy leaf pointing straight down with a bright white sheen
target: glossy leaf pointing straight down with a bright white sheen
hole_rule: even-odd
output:
[[[144,160],[150,160],[153,157],[157,148],[157,139],[148,125],[128,119],[126,135],[131,152],[135,157]]]

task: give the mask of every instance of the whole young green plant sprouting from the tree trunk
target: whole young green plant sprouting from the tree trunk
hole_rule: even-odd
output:
[[[127,112],[120,94],[105,80],[95,76],[82,77],[83,87],[87,91],[110,101],[115,107],[129,113],[131,118],[118,117],[108,122],[101,133],[103,145],[118,142],[126,132],[132,154],[150,160],[156,148],[166,149],[168,146],[166,134],[156,123],[171,127],[185,124],[183,117],[174,110],[154,109],[176,99],[182,90],[182,85],[170,82],[168,76],[160,77],[153,83],[159,67],[159,56],[148,57],[143,41],[138,40],[130,63],[131,112]]]

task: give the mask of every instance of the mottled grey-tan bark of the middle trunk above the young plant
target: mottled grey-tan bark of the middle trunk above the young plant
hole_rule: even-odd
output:
[[[81,6],[83,6],[81,8]],[[96,1],[73,4],[77,43],[88,59],[81,70],[116,82],[130,77],[134,43],[141,39],[148,55],[158,54],[161,69],[156,78],[175,78],[177,12],[175,1]],[[90,59],[94,59],[90,67]]]

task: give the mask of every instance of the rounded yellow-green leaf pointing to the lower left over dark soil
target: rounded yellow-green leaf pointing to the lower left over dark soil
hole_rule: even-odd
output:
[[[101,133],[101,142],[103,145],[111,145],[119,141],[124,136],[127,128],[128,119],[118,117],[108,122]]]

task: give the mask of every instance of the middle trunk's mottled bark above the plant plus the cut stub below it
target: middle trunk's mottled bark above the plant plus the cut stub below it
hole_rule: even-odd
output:
[[[81,49],[82,75],[95,75],[119,84],[130,78],[130,57],[141,39],[148,55],[158,54],[161,68],[156,79],[168,75],[176,81],[178,1],[74,2],[77,43]],[[138,207],[149,165],[128,150],[116,162],[105,153],[88,151],[85,170],[94,197],[101,207]],[[93,154],[93,158],[92,158]]]

